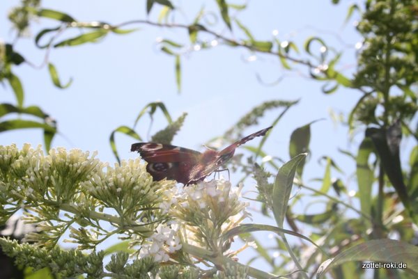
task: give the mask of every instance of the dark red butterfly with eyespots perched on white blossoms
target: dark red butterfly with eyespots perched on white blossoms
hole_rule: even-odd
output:
[[[256,131],[219,152],[208,149],[201,153],[162,143],[134,143],[131,151],[139,152],[142,159],[148,162],[146,170],[153,176],[153,180],[167,178],[187,186],[204,180],[233,157],[235,148],[256,136],[264,136],[271,128],[272,126]]]

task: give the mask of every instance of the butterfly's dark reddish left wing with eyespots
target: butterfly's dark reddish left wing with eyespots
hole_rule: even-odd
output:
[[[201,153],[187,148],[162,143],[134,143],[137,151],[148,162],[146,170],[154,180],[176,180],[189,184],[192,168],[199,164]]]

